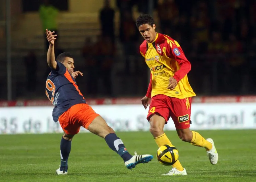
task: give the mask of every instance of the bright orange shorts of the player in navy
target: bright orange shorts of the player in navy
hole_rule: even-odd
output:
[[[80,127],[88,129],[92,121],[99,116],[88,104],[76,104],[59,117],[59,124],[66,134],[75,135]]]

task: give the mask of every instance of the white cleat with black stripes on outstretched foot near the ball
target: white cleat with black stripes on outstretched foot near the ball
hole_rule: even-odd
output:
[[[153,156],[152,155],[148,155],[148,154],[145,154],[145,155],[137,155],[137,152],[135,151],[134,152],[134,156],[127,160],[125,162],[125,166],[128,168],[128,169],[132,169],[132,168],[135,168],[135,166],[137,164],[140,164],[140,163],[148,163],[149,161],[151,161],[153,159]]]

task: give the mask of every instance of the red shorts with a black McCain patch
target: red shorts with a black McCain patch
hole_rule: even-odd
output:
[[[189,128],[191,124],[191,97],[178,99],[162,94],[155,95],[151,98],[151,103],[147,115],[148,121],[150,120],[150,117],[155,113],[158,113],[164,117],[166,123],[170,117],[172,117],[176,129]]]

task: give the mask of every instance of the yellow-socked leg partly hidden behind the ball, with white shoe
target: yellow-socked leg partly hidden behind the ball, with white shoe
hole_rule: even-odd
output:
[[[158,147],[160,147],[164,144],[172,145],[172,143],[170,142],[170,140],[167,138],[166,134],[164,133],[164,124],[166,122],[164,117],[162,117],[161,115],[156,113],[150,117],[149,122],[150,122],[150,129],[149,129],[150,133],[153,135]],[[178,171],[174,171],[172,173],[172,175],[186,175],[187,174],[185,168],[183,168],[181,166],[181,163],[179,162],[179,160],[177,160],[173,164],[172,167],[173,167],[173,169],[178,170]]]

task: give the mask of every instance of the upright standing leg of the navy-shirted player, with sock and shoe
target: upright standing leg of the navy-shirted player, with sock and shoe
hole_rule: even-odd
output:
[[[68,159],[69,159],[69,153],[71,151],[71,141],[73,136],[74,136],[73,134],[66,134],[64,132],[63,136],[61,137],[61,142],[60,142],[61,165],[56,170],[56,174],[59,174],[59,175],[67,174]]]

